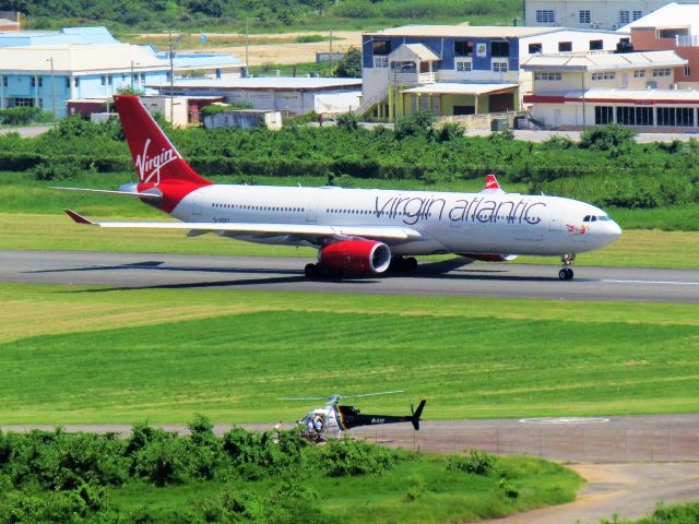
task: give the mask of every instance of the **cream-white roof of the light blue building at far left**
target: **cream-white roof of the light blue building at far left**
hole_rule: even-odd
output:
[[[0,48],[0,71],[49,74],[110,71],[165,71],[167,64],[139,46],[103,44]]]

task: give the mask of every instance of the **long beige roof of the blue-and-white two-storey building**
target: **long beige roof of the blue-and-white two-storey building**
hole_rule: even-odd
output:
[[[560,27],[524,27],[511,25],[404,25],[365,33],[365,36],[457,36],[522,37],[560,31]]]

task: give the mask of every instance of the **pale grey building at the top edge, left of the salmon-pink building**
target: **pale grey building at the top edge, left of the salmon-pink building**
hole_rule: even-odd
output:
[[[662,8],[668,0],[525,0],[524,25],[617,29]]]

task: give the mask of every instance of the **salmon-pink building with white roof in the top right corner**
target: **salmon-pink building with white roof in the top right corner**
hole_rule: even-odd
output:
[[[673,2],[620,31],[630,32],[635,50],[674,50],[687,59],[675,69],[675,82],[699,87],[699,4]]]

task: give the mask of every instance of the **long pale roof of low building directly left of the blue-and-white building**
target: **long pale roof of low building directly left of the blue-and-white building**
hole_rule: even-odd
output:
[[[169,87],[169,82],[149,87]],[[179,79],[176,87],[211,90],[327,90],[356,88],[362,79],[306,78],[306,76],[260,76],[248,79]]]

